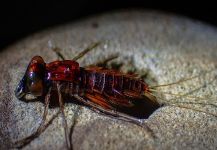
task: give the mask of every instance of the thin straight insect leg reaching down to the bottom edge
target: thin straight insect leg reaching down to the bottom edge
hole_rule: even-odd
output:
[[[70,140],[69,140],[69,131],[68,131],[68,125],[67,125],[67,121],[66,121],[66,116],[64,113],[64,104],[63,104],[63,100],[62,100],[62,95],[60,92],[60,84],[57,83],[57,92],[58,92],[58,96],[59,96],[59,105],[60,105],[60,111],[62,114],[62,124],[65,130],[65,138],[66,138],[66,145],[68,149],[72,149],[71,145],[70,145]]]

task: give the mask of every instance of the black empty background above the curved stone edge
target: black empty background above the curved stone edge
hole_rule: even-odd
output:
[[[0,50],[39,30],[118,9],[151,9],[217,25],[217,5],[210,2],[78,0],[0,2]]]

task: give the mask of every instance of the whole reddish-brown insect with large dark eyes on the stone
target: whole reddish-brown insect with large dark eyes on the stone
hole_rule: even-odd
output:
[[[51,100],[56,99],[59,104],[68,149],[73,147],[69,139],[64,114],[65,99],[86,106],[93,111],[141,126],[143,126],[143,120],[161,106],[152,93],[156,90],[133,74],[126,74],[97,65],[80,67],[77,60],[98,44],[95,43],[88,47],[72,60],[65,60],[57,48],[53,50],[62,59],[61,61],[45,63],[40,56],[32,58],[24,77],[15,90],[15,95],[18,99],[28,102],[40,99],[45,104],[45,109],[38,130],[33,135],[17,141],[14,147],[24,147],[45,129],[46,115]],[[115,57],[111,57],[105,62],[113,58]],[[186,106],[177,106],[191,109]],[[202,110],[196,111],[204,112]]]

